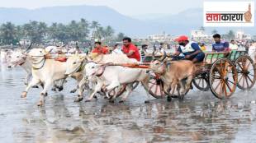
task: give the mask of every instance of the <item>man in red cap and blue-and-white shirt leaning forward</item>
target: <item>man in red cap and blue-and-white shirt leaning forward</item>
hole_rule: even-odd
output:
[[[192,62],[201,62],[205,58],[205,53],[201,52],[201,48],[195,42],[190,42],[186,35],[179,36],[175,39],[178,44],[178,50],[174,56],[179,56],[181,53],[185,56],[184,59],[191,60]]]

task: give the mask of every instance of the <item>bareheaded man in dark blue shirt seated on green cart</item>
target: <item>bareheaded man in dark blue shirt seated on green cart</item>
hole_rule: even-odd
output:
[[[229,43],[221,42],[219,34],[213,35],[212,37],[216,42],[215,44],[212,44],[212,52],[229,52],[230,51]]]

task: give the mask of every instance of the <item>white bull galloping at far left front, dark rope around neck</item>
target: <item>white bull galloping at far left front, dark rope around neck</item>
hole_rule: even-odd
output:
[[[44,104],[44,97],[47,90],[53,85],[54,81],[65,79],[66,63],[58,62],[54,59],[45,58],[45,50],[41,48],[33,48],[28,56],[32,64],[32,80],[27,85],[26,90],[22,92],[21,97],[25,98],[27,91],[33,85],[43,84],[44,89],[40,93],[40,101],[38,105]]]

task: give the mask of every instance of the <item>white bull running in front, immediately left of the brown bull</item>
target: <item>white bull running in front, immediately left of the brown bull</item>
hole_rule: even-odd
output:
[[[92,90],[91,95],[87,101],[92,100],[92,97],[102,89],[102,86],[106,86],[107,92],[114,90],[121,85],[126,85],[126,94],[123,96],[120,102],[124,102],[132,90],[132,83],[135,81],[141,81],[148,89],[149,74],[145,69],[121,67],[121,66],[106,66],[100,65],[95,62],[88,62],[85,66],[86,77],[88,80],[94,78],[97,79],[97,85]],[[112,98],[112,101],[116,98],[116,95]]]

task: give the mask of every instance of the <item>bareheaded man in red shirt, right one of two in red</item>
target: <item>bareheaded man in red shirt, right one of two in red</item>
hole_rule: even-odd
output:
[[[131,39],[129,37],[123,39],[122,51],[128,58],[135,58],[138,62],[140,62],[139,49],[131,43]]]

